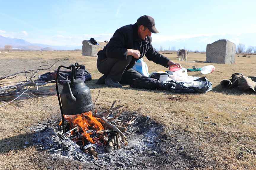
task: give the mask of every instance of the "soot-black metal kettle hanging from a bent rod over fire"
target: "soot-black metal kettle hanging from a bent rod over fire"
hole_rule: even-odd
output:
[[[60,112],[62,115],[62,122],[64,122],[64,115],[78,115],[89,112],[93,109],[92,96],[90,89],[84,84],[81,79],[76,79],[76,70],[80,67],[78,63],[70,65],[69,67],[59,66],[56,77],[56,91],[60,105]],[[58,81],[60,68],[64,67],[71,70],[71,81],[67,81],[63,85],[63,89],[59,95]],[[64,123],[63,132],[64,132]]]

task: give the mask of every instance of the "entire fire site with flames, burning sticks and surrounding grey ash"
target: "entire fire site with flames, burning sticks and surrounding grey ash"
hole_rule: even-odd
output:
[[[137,112],[121,115],[127,107],[121,112],[117,109],[120,107],[112,107],[102,114],[89,112],[65,116],[65,133],[61,121],[49,120],[47,123],[40,123],[32,128],[36,132],[34,145],[39,150],[48,150],[52,156],[65,156],[85,163],[94,163],[100,168],[132,169],[140,166],[137,165],[140,164],[137,158],[142,152],[152,149],[161,128],[150,126],[149,117],[138,117]],[[102,117],[108,122],[103,121]],[[103,129],[100,124],[92,121],[93,118]],[[81,121],[83,125],[87,125],[86,128],[81,127]],[[146,122],[150,128],[142,129],[142,122]],[[109,123],[111,125],[108,125]]]

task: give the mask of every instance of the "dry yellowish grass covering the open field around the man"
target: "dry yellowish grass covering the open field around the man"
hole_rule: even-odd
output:
[[[175,53],[165,55],[172,61],[178,62]],[[215,71],[206,75],[213,84],[213,90],[207,94],[178,94],[182,99],[180,101],[169,100],[168,96],[172,95],[169,91],[132,89],[129,86],[115,89],[95,85],[101,76],[96,67],[97,58],[82,56],[81,51],[12,52],[1,54],[0,60],[1,58],[14,61],[29,59],[38,62],[59,58],[61,61],[69,59],[70,64],[74,62],[84,64],[92,73],[93,80],[88,81],[87,86],[91,89],[93,100],[96,99],[100,90],[97,107],[109,107],[114,100],[117,100],[117,104],[129,106],[130,111],[143,107],[142,115],[150,115],[156,122],[165,125],[167,132],[178,130],[190,136],[193,146],[205,153],[207,162],[204,169],[253,169],[256,167],[256,155],[244,149],[246,147],[256,151],[256,109],[252,110],[256,107],[256,96],[241,93],[236,89],[223,90],[219,85],[221,80],[229,79],[231,74],[236,72],[256,76],[256,55],[251,55],[251,58],[236,57],[236,63],[232,65],[213,64]],[[185,68],[207,65],[207,63],[192,62],[196,60],[205,61],[205,54],[189,53],[188,62],[180,63]],[[146,58],[144,61],[148,64],[150,72],[164,70],[164,67]],[[202,76],[199,72],[190,72],[189,75]],[[42,88],[55,91],[55,84]],[[13,102],[0,108],[0,117],[0,169],[22,169],[23,167],[23,169],[47,169],[51,161],[47,162],[46,157],[42,160],[40,155],[43,153],[34,146],[25,149],[23,146],[25,141],[29,141],[30,145],[32,143],[33,134],[29,127],[37,122],[61,117],[57,97],[47,96],[35,101],[24,99]],[[182,142],[186,142],[185,139]],[[240,152],[243,156],[239,157]],[[56,164],[58,162],[63,166],[70,164],[55,160]],[[193,167],[190,168],[193,169]]]

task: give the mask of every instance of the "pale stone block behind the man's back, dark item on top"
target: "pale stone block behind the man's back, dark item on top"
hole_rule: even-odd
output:
[[[82,48],[83,55],[97,57],[98,51],[102,50],[107,43],[98,42],[98,44],[99,45],[93,45],[89,40],[84,40]]]

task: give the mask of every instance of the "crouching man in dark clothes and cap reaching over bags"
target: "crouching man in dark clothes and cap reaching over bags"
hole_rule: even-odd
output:
[[[142,75],[132,69],[135,62],[144,55],[148,60],[166,68],[175,64],[153,48],[151,33],[159,33],[152,17],[143,15],[135,24],[125,25],[114,33],[103,50],[98,52],[97,68],[104,74],[96,84],[122,87]],[[120,84],[121,83],[121,84]]]

